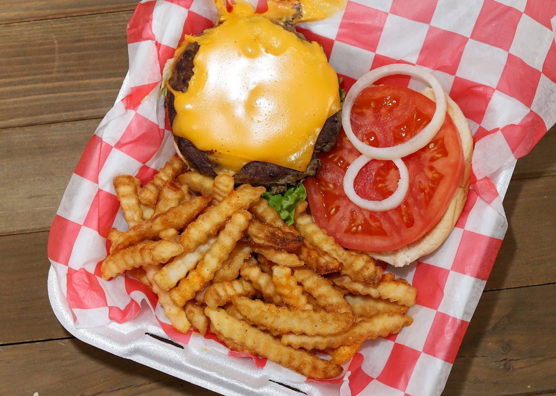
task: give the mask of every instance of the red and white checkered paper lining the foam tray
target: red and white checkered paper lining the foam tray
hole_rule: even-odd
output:
[[[327,385],[341,395],[443,390],[507,229],[492,180],[556,122],[555,14],[556,3],[545,0],[355,0],[331,18],[297,27],[322,45],[346,91],[389,63],[431,71],[459,104],[475,143],[472,189],[453,232],[435,253],[408,267],[387,268],[419,290],[417,305],[408,310],[413,324],[365,342],[345,364],[345,378],[325,381],[341,384]],[[238,365],[254,359],[261,370],[290,382],[310,382],[266,359],[229,352],[211,335],[176,332],[156,295],[136,279],[121,274],[106,281],[100,275],[108,231],[127,229],[112,179],[132,174],[145,184],[175,154],[159,94],[163,66],[184,34],[199,34],[216,18],[212,0],[138,4],[127,27],[130,84],[77,164],[52,223],[48,257],[77,328],[127,322],[143,302],[178,343],[221,350],[236,356]],[[381,82],[424,87],[405,76]]]

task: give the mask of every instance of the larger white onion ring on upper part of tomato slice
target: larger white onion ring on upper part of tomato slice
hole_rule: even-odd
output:
[[[418,134],[408,141],[393,147],[372,147],[361,142],[351,129],[351,108],[355,103],[355,99],[359,96],[363,89],[371,86],[376,80],[392,76],[393,74],[406,74],[412,77],[418,77],[428,83],[433,88],[436,97],[436,111],[430,123]],[[389,64],[387,66],[376,68],[363,77],[351,87],[349,93],[345,97],[344,106],[342,107],[342,126],[347,138],[355,146],[355,148],[365,156],[374,159],[390,159],[403,158],[409,154],[425,147],[434,138],[446,118],[446,94],[444,89],[436,78],[429,72],[409,64]]]

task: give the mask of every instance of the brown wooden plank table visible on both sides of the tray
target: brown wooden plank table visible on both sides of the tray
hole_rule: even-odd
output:
[[[126,75],[134,8],[0,3],[2,395],[215,394],[71,337],[48,302],[48,230]],[[553,128],[518,161],[508,233],[443,395],[556,395],[555,152]]]

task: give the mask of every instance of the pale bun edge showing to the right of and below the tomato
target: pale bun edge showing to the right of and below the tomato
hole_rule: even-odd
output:
[[[425,88],[424,96],[431,100],[435,100],[433,90]],[[454,229],[455,223],[458,222],[459,216],[463,211],[467,195],[469,193],[469,179],[471,177],[471,157],[473,157],[473,136],[469,129],[469,124],[465,116],[461,112],[458,105],[446,94],[448,99],[448,114],[458,129],[461,139],[461,147],[463,148],[463,173],[459,181],[458,188],[451,199],[448,209],[444,213],[440,221],[423,237],[415,242],[408,243],[401,248],[390,250],[388,252],[368,252],[368,254],[378,260],[394,265],[394,267],[403,267],[413,263],[419,257],[434,252],[448,237],[451,230]]]

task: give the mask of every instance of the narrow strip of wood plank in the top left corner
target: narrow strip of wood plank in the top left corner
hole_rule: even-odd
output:
[[[136,0],[4,0],[0,3],[0,23],[37,21],[116,11],[131,11]]]

